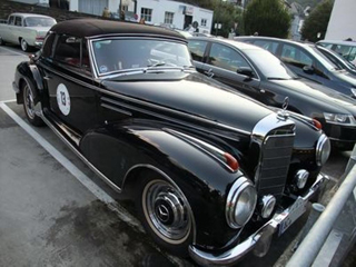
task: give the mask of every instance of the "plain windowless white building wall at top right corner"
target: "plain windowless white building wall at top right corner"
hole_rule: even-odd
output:
[[[356,40],[355,11],[355,0],[335,0],[325,40]]]

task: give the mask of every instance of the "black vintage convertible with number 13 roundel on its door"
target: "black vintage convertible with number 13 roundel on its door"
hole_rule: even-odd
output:
[[[263,256],[325,181],[329,140],[198,73],[179,33],[92,19],[56,24],[17,67],[28,120],[48,125],[152,238],[200,265]]]

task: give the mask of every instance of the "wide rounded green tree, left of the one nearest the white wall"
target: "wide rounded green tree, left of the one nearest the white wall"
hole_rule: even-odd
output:
[[[245,33],[287,38],[291,17],[280,0],[251,0],[245,11]]]

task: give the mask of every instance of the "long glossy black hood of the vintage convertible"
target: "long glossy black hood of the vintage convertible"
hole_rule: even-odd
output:
[[[259,102],[196,72],[165,81],[103,80],[102,86],[134,101],[142,100],[140,105],[150,109],[154,107],[160,113],[176,117],[179,111],[181,116],[202,118],[248,132],[253,131],[260,119],[273,112]]]

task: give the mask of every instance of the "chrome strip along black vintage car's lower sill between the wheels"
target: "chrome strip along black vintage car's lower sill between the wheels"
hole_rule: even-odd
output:
[[[108,184],[113,190],[117,192],[121,192],[121,188],[115,185],[108,177],[106,177],[100,170],[98,170],[92,164],[89,162],[89,160],[79,152],[79,150],[73,147],[67,138],[46,118],[43,112],[40,115],[41,119],[44,121],[44,123],[53,130],[53,132],[97,175],[99,176],[106,184]]]

